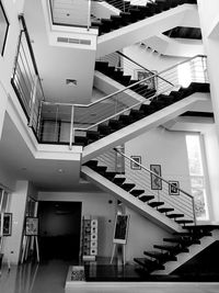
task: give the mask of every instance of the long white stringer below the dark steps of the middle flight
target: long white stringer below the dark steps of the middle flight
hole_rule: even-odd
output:
[[[164,109],[157,111],[155,113],[146,116],[115,133],[112,133],[83,148],[82,164],[97,157],[106,151],[106,149],[122,145],[143,133],[150,131],[159,125],[181,115],[188,111],[198,101],[208,101],[209,93],[195,92],[189,97],[175,102]]]

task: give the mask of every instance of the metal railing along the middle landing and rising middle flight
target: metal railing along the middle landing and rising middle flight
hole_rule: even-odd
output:
[[[149,104],[159,94],[169,94],[172,90],[178,89],[181,84],[178,84],[177,69],[184,64],[189,65],[191,82],[208,81],[206,57],[198,55],[159,74],[154,72],[90,104],[42,102],[38,139],[50,144],[53,142],[69,144],[71,148],[71,145],[77,143],[76,136],[87,136],[88,131],[96,131],[100,124],[118,120],[120,114],[129,114],[131,109],[138,110],[141,104]],[[151,84],[152,88],[147,91]]]

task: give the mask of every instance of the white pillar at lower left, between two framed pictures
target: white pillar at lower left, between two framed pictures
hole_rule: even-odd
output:
[[[16,264],[20,258],[22,233],[25,218],[28,182],[18,181],[11,194],[9,212],[12,213],[12,235],[5,237],[3,261]]]

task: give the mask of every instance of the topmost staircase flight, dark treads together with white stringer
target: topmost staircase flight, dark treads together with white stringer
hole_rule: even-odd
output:
[[[139,0],[140,1],[140,0]],[[141,2],[142,3],[142,2]],[[196,1],[135,2],[125,12],[92,23],[99,29],[96,57],[130,46],[176,26],[189,26],[197,19]]]

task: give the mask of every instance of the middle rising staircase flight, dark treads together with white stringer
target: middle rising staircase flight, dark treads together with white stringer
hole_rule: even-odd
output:
[[[150,104],[142,103],[128,114],[120,114],[100,124],[96,129],[76,136],[74,143],[83,145],[82,161],[85,162],[105,149],[123,144],[146,131],[157,127],[188,111],[197,101],[208,101],[209,84],[192,82],[188,88],[160,94]]]

